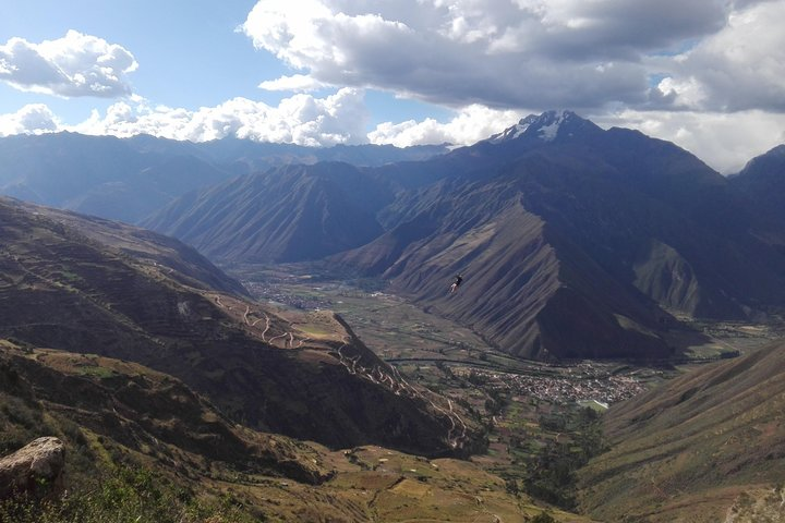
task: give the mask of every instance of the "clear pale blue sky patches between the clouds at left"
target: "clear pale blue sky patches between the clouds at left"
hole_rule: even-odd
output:
[[[237,31],[255,0],[3,2],[12,7],[4,8],[0,16],[0,42],[12,37],[31,42],[56,40],[75,29],[118,44],[140,63],[129,75],[134,93],[154,104],[196,109],[240,96],[277,106],[287,96],[261,89],[258,84],[289,74],[291,69],[270,52],[254,49],[251,39]],[[0,114],[43,102],[64,123],[75,125],[86,120],[90,110],[106,110],[114,101],[95,97],[64,99],[0,83]],[[444,119],[451,112],[413,99],[396,99],[383,90],[366,93],[365,101],[377,121],[428,115]]]

